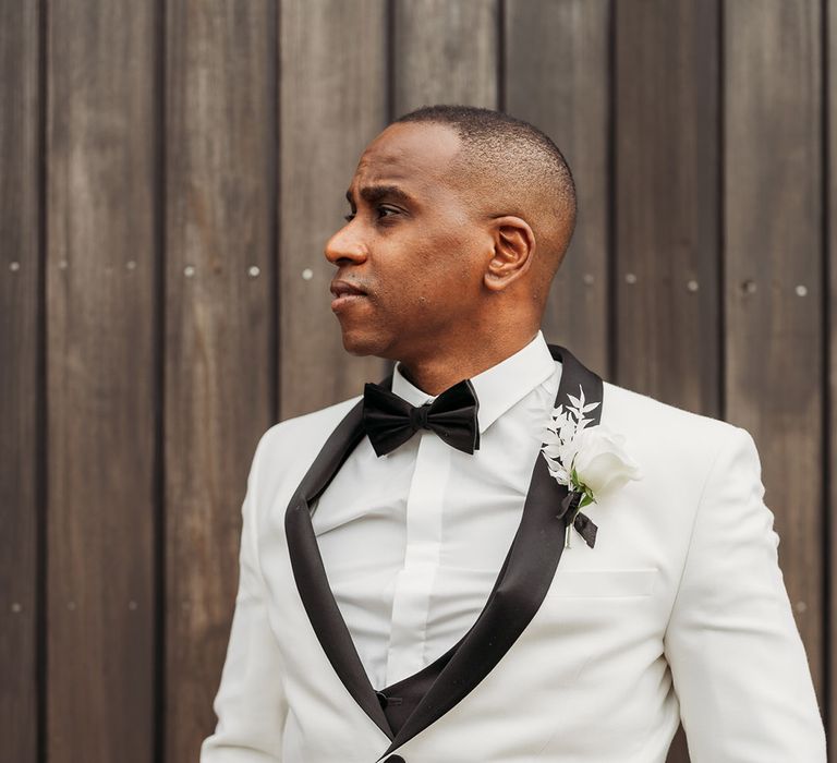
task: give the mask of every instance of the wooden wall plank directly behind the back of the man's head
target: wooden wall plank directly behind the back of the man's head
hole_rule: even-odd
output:
[[[608,377],[610,2],[507,0],[505,28],[505,110],[553,138],[578,196],[544,336]]]

